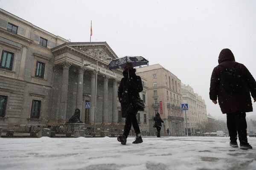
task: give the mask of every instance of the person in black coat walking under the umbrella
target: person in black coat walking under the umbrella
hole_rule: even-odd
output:
[[[123,71],[123,78],[121,79],[118,88],[118,99],[121,103],[122,117],[125,118],[124,133],[122,136],[118,136],[117,140],[121,144],[126,144],[126,139],[130,133],[131,125],[136,133],[136,139],[134,144],[142,143],[143,140],[140,135],[140,127],[137,122],[136,115],[138,110],[132,105],[133,98],[140,99],[140,92],[143,91],[143,85],[140,76],[135,74],[136,69],[133,68],[132,63],[125,65]]]

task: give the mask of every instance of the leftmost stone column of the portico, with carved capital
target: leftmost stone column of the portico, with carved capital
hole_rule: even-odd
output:
[[[67,90],[68,90],[68,74],[70,62],[63,62],[63,72],[62,72],[62,87],[61,87],[61,103],[60,103],[60,112],[59,112],[59,122],[66,122],[66,113],[67,113]]]

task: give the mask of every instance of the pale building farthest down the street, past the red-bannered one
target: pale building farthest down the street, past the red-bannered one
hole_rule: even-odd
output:
[[[186,134],[188,130],[189,136],[201,135],[205,133],[204,127],[208,122],[205,101],[201,96],[194,93],[194,89],[189,85],[182,84],[181,88],[183,103],[189,105],[189,110],[186,111],[185,115]]]

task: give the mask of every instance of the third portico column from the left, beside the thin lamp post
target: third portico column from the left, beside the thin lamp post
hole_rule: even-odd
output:
[[[90,91],[90,111],[88,124],[94,123],[94,110],[95,110],[95,90],[96,90],[96,75],[92,72],[91,76],[91,91]]]

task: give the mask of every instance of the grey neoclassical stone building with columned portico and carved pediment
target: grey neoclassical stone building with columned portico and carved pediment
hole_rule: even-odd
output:
[[[70,42],[0,9],[0,57],[0,126],[64,125],[79,108],[85,125],[96,111],[97,125],[122,129],[122,70],[107,68],[118,58],[107,42]]]

